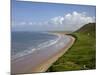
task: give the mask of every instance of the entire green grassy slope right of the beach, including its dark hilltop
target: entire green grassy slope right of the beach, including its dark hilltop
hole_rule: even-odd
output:
[[[96,68],[95,23],[89,23],[71,34],[74,45],[47,71],[86,70]]]

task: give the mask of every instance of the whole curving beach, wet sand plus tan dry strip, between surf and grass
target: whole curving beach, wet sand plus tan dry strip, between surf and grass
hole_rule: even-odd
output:
[[[59,57],[61,57],[74,42],[72,36],[60,34],[57,43],[36,50],[29,55],[11,61],[11,73],[45,72]]]

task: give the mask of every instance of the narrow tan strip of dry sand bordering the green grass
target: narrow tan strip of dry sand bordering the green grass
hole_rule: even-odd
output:
[[[64,34],[61,34],[61,35],[64,35]],[[46,60],[46,62],[38,65],[35,69],[33,69],[33,73],[45,72],[54,62],[56,62],[73,45],[75,38],[72,36],[70,37],[71,37],[71,42],[69,42],[69,45],[61,49],[55,55],[51,56],[48,60]]]

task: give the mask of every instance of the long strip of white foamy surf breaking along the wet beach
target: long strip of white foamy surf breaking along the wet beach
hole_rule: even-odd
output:
[[[30,53],[32,53],[32,52],[34,52],[34,51],[41,50],[41,49],[43,49],[43,48],[46,48],[46,47],[49,47],[49,46],[51,46],[51,45],[56,44],[56,43],[60,40],[61,35],[58,35],[58,34],[54,34],[54,35],[58,36],[58,38],[53,39],[53,40],[46,41],[46,42],[44,42],[44,43],[41,43],[41,44],[39,44],[36,48],[31,47],[31,48],[29,48],[29,49],[27,49],[27,50],[24,50],[23,52],[20,52],[20,53],[17,53],[17,54],[15,54],[15,55],[12,55],[12,57],[11,57],[12,59],[11,59],[11,60],[17,59],[17,58],[19,58],[19,57],[28,55],[28,54],[30,54]]]

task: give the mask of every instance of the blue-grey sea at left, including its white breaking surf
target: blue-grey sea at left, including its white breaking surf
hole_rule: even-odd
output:
[[[11,59],[28,55],[56,43],[58,36],[44,32],[12,32]]]

